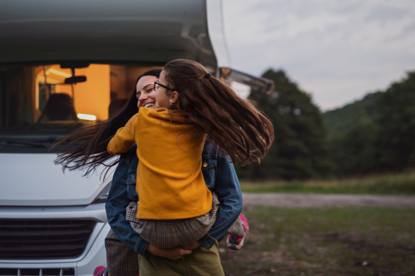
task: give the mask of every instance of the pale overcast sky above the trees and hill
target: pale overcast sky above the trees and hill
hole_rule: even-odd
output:
[[[232,67],[286,71],[322,110],[415,70],[414,0],[223,0]]]

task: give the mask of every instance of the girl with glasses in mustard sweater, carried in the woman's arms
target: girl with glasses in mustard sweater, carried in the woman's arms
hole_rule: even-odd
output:
[[[273,126],[252,103],[194,61],[167,63],[154,90],[157,109],[140,108],[107,150],[126,152],[136,142],[136,230],[150,244],[171,248],[205,235],[216,217],[216,203],[200,169],[206,135],[233,162],[248,164],[266,155]]]

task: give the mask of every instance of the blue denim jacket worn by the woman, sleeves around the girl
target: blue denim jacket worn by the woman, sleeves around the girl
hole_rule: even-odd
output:
[[[120,156],[105,209],[108,223],[118,239],[133,248],[136,253],[145,256],[149,243],[134,232],[129,221],[125,219],[125,208],[131,201],[138,201],[136,149],[134,144],[133,148]],[[217,193],[221,202],[214,225],[209,233],[199,240],[202,246],[210,249],[239,217],[243,206],[242,193],[230,159],[219,156],[216,148],[208,141],[205,142],[202,152],[202,172],[206,186]]]

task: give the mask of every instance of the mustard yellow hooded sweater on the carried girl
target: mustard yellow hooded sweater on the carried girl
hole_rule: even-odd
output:
[[[140,108],[116,132],[107,148],[111,155],[137,144],[139,219],[187,219],[210,211],[212,193],[201,170],[204,141],[184,115],[167,108]]]

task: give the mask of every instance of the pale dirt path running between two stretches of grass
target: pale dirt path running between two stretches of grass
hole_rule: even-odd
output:
[[[277,207],[343,207],[378,206],[415,208],[415,196],[404,195],[293,195],[243,193],[243,205],[266,205]]]

